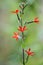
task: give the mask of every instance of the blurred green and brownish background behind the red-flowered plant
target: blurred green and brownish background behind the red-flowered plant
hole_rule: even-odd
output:
[[[28,2],[22,16],[23,22],[39,18],[38,24],[27,25],[23,43],[12,38],[19,24],[11,11],[20,9],[21,2]],[[26,65],[43,65],[43,0],[0,0],[0,65],[23,65],[22,47],[35,52]]]

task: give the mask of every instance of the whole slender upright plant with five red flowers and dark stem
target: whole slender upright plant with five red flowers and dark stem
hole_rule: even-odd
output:
[[[26,24],[39,23],[39,19],[38,19],[38,17],[36,17],[36,18],[34,18],[34,20],[29,21],[29,22],[25,22],[23,24],[21,15],[24,14],[24,9],[25,9],[26,6],[27,6],[27,4],[25,5],[25,3],[23,2],[23,3],[21,3],[21,5],[19,5],[21,10],[16,9],[15,11],[12,11],[13,14],[17,15],[18,21],[20,23],[20,26],[17,28],[18,32],[14,32],[14,35],[12,36],[12,38],[15,38],[16,40],[19,40],[19,39],[23,39],[24,40],[24,32],[26,30],[28,30]],[[19,32],[22,33],[22,35],[20,35]],[[23,65],[25,65],[24,52],[27,54],[26,61],[28,61],[28,56],[33,56],[34,55],[34,52],[32,52],[30,48],[28,50],[24,50],[23,49]]]

